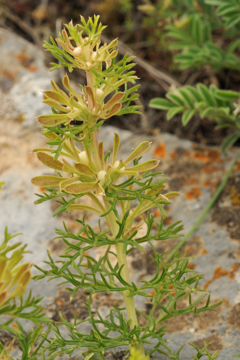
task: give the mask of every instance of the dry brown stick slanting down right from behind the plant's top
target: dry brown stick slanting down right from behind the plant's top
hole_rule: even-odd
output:
[[[110,42],[110,40],[101,35],[101,39],[106,42]],[[121,55],[125,55],[126,52],[129,56],[135,56],[134,62],[145,69],[146,72],[149,73],[162,87],[165,91],[169,90],[169,85],[176,85],[177,87],[182,86],[175,78],[171,75],[166,74],[165,72],[156,69],[153,65],[147,62],[144,59],[141,59],[139,56],[136,56],[135,53],[130,49],[127,45],[125,45],[122,41],[118,40],[118,52]]]

